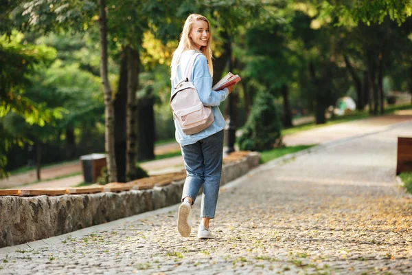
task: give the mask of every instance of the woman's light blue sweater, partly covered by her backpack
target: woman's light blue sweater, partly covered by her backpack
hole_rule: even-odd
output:
[[[174,92],[174,87],[180,80],[183,79],[183,76],[186,71],[186,67],[196,51],[194,50],[187,50],[183,52],[181,55],[181,61],[177,66],[176,73],[172,76],[172,94]],[[179,123],[174,120],[174,126],[176,127],[175,137],[176,141],[179,142],[182,146],[188,144],[194,144],[199,140],[203,140],[205,137],[209,137],[214,133],[218,133],[218,131],[222,131],[225,128],[226,122],[223,118],[222,113],[220,112],[219,105],[220,102],[225,100],[229,95],[229,90],[227,88],[221,91],[213,91],[211,89],[211,75],[209,73],[209,68],[207,67],[207,59],[206,56],[200,54],[196,56],[193,64],[192,70],[192,82],[194,87],[196,87],[198,91],[199,98],[201,102],[205,106],[211,106],[211,111],[214,114],[214,122],[211,124],[207,129],[200,131],[199,133],[195,133],[194,135],[185,135],[183,133]]]

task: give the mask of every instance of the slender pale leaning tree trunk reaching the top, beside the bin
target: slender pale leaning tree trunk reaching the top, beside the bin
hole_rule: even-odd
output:
[[[106,25],[106,5],[104,0],[98,0],[99,3],[99,34],[100,34],[100,76],[102,77],[102,85],[104,89],[104,148],[106,151],[106,163],[108,181],[117,181],[117,168],[115,159],[115,126],[114,126],[114,107],[113,95],[108,83],[108,68],[107,68],[107,25]]]

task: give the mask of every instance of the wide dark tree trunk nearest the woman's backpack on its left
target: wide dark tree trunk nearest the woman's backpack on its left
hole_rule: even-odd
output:
[[[155,112],[153,88],[145,98],[137,100],[137,160],[155,159]]]

